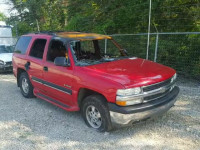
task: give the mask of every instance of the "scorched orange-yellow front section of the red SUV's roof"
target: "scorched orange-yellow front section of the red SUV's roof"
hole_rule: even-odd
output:
[[[55,34],[62,38],[76,39],[76,40],[80,40],[80,41],[111,39],[110,36],[96,34],[96,33],[57,32]]]

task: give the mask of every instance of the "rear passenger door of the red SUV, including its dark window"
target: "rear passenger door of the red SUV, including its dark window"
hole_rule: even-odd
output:
[[[29,55],[27,56],[28,61],[25,64],[36,92],[45,92],[42,82],[44,64],[43,55],[45,49],[47,49],[47,41],[48,39],[46,38],[33,39]]]

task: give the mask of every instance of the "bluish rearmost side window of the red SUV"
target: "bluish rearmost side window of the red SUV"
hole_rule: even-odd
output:
[[[30,44],[31,37],[30,36],[22,36],[17,41],[17,45],[15,46],[14,53],[25,54]]]

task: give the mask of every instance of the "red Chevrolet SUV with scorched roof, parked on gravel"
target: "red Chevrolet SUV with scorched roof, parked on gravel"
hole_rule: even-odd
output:
[[[112,37],[93,33],[23,35],[13,71],[24,97],[81,110],[98,131],[160,115],[179,93],[174,69],[128,56]]]

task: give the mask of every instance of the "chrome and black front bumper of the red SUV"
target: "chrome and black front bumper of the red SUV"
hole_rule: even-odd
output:
[[[110,117],[113,126],[127,126],[134,122],[147,120],[168,111],[176,102],[179,88],[177,86],[162,98],[133,106],[118,106],[109,103]]]

